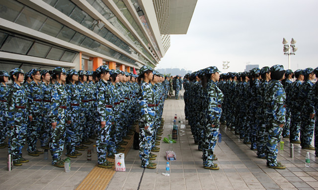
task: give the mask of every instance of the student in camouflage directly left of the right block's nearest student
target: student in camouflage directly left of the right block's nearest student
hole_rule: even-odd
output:
[[[266,125],[268,121],[265,120],[265,110],[266,104],[264,103],[265,90],[267,89],[268,81],[270,80],[270,68],[263,67],[260,70],[260,75],[262,82],[259,85],[257,92],[257,130],[256,130],[256,148],[257,148],[257,157],[266,159],[266,139],[267,133],[265,134]]]

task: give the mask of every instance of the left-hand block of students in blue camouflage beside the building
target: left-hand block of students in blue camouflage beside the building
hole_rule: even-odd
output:
[[[149,160],[156,158],[151,151],[159,151],[156,139],[161,138],[162,108],[168,92],[163,75],[153,72],[144,89],[143,80],[141,86],[137,83],[138,75],[107,66],[95,72],[62,67],[28,73],[19,68],[0,71],[0,148],[8,147],[13,165],[22,166],[29,162],[22,157],[25,145],[30,156],[44,153],[37,149],[39,140],[42,149],[50,150],[52,165],[64,167],[64,148],[67,157],[77,158],[96,139],[98,167],[111,168],[114,163],[107,158],[125,150],[125,140],[140,122],[149,126],[140,125],[142,167],[156,168]],[[152,99],[143,99],[141,90],[152,92]]]

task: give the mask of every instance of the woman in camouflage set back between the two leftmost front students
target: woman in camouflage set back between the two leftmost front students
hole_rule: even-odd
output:
[[[44,91],[41,88],[41,74],[37,69],[32,69],[29,72],[32,82],[29,84],[27,91],[28,97],[28,117],[30,124],[27,129],[28,155],[39,156],[42,151],[36,149],[36,142],[40,136],[43,126],[43,97]]]

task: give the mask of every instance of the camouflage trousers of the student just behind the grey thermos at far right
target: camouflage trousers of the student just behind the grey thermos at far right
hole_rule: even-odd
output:
[[[300,111],[291,110],[291,121],[290,121],[290,141],[298,141],[299,140],[299,132],[300,132],[300,125],[301,125],[301,113]]]

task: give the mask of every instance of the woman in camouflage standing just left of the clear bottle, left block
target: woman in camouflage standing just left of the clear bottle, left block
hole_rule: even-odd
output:
[[[66,71],[62,67],[56,67],[53,70],[52,79],[56,83],[51,91],[51,113],[50,120],[52,124],[50,150],[52,155],[52,164],[63,168],[64,161],[61,159],[65,143],[66,124],[71,124],[71,117],[68,115],[67,108],[70,106],[68,93],[65,90]]]

